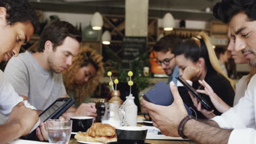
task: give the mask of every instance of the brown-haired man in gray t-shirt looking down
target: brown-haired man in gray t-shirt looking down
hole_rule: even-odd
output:
[[[27,51],[11,58],[4,76],[39,113],[57,98],[67,97],[61,72],[72,64],[81,41],[80,32],[71,23],[52,21],[40,35],[37,52]],[[81,104],[78,109],[71,107],[65,116],[91,116],[92,113],[96,113],[94,105]],[[44,123],[37,128],[37,136],[41,141],[48,139]]]

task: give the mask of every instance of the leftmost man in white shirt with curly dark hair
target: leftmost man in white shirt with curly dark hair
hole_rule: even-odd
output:
[[[0,1],[0,62],[19,55],[36,23],[36,12],[26,0]],[[38,121],[37,112],[26,108],[22,100],[0,70],[0,113],[9,115],[7,122],[0,125],[0,143],[28,134]]]

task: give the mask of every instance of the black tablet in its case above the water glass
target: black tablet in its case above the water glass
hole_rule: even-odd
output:
[[[59,98],[54,101],[47,109],[39,115],[40,122],[45,122],[48,119],[58,119],[64,112],[66,112],[69,107],[71,107],[75,103],[75,100],[71,98]],[[39,126],[39,123],[35,125],[35,127],[31,130],[30,134],[22,136],[22,139],[39,141],[36,135],[36,128]]]

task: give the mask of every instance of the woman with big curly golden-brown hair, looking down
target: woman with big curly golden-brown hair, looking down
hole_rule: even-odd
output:
[[[90,103],[103,74],[102,56],[96,51],[80,49],[73,57],[72,65],[63,71],[63,81],[69,97],[75,99],[75,107],[82,103]]]

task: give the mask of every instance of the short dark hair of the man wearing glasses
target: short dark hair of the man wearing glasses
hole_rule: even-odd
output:
[[[153,47],[154,51],[157,52],[168,52],[171,51],[174,53],[175,47],[179,43],[179,39],[173,35],[169,34],[166,35],[165,37],[162,37]]]

